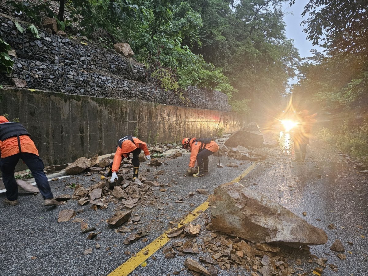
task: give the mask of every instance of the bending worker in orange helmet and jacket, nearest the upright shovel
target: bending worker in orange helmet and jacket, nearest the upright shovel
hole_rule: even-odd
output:
[[[195,137],[184,138],[183,142],[181,142],[181,145],[184,149],[191,151],[187,173],[191,174],[192,168],[195,166],[195,161],[197,160],[198,172],[193,174],[193,176],[204,176],[204,172],[208,172],[208,157],[219,150],[219,145],[209,138],[197,139]]]

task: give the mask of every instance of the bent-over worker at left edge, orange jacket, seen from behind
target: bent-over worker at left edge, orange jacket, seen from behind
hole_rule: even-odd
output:
[[[6,189],[5,203],[17,205],[18,185],[14,178],[14,170],[19,159],[31,170],[40,193],[45,200],[45,205],[59,205],[54,199],[49,182],[43,171],[44,165],[38,156],[35,143],[29,137],[31,134],[21,123],[9,122],[4,116],[0,116],[0,169],[3,174],[4,186]]]

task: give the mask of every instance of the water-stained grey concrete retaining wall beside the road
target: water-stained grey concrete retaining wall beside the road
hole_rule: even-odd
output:
[[[45,165],[114,152],[132,134],[151,143],[233,132],[244,119],[230,112],[27,89],[0,90],[0,115],[19,118],[32,134]]]

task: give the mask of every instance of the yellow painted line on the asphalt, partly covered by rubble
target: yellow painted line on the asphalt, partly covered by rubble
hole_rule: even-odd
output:
[[[245,177],[245,175],[249,174],[251,170],[253,170],[258,163],[253,163],[250,165],[241,175],[239,175],[237,178],[234,178],[230,183],[239,182],[241,179]],[[191,213],[189,213],[184,219],[182,219],[179,224],[183,225],[185,223],[190,223],[191,221],[195,220],[200,214],[205,212],[209,207],[209,202],[205,201],[201,205],[199,205],[197,208],[195,208]],[[136,269],[142,262],[146,261],[153,253],[158,251],[160,247],[164,246],[168,241],[170,241],[170,238],[167,237],[167,234],[170,230],[167,230],[162,235],[160,235],[156,240],[152,241],[150,244],[148,244],[145,248],[143,248],[141,251],[139,251],[135,256],[128,259],[128,261],[121,264],[118,268],[116,268],[114,271],[112,271],[108,276],[126,276],[129,273],[131,273],[134,269]],[[144,255],[143,253],[146,253],[148,251],[148,254]]]

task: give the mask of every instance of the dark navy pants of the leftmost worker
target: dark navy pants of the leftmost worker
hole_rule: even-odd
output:
[[[43,199],[53,198],[49,182],[43,169],[45,166],[39,156],[33,153],[18,153],[0,160],[0,169],[3,174],[4,186],[6,189],[6,197],[8,200],[18,199],[18,184],[14,178],[14,170],[19,159],[22,159],[28,166],[35,178],[36,184]]]

